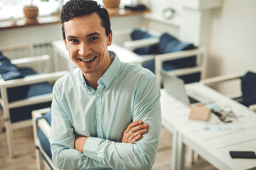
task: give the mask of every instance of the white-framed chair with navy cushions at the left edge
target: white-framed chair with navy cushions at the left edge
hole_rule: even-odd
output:
[[[9,60],[0,54],[0,104],[11,157],[15,155],[13,130],[32,125],[31,111],[50,107],[52,84],[67,74],[66,71],[47,73],[49,60],[48,55]],[[43,65],[45,72],[38,74],[31,67],[22,67],[23,64]]]

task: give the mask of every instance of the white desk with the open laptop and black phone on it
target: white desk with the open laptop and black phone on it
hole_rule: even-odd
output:
[[[161,108],[163,125],[172,128],[174,134],[175,159],[172,169],[184,169],[186,145],[196,151],[217,169],[250,169],[256,166],[256,159],[232,159],[231,150],[256,151],[256,114],[240,103],[219,94],[203,84],[187,84],[186,90],[196,93],[198,96],[207,96],[220,107],[231,106],[235,115],[238,115],[240,125],[244,130],[204,130],[207,122],[189,120],[189,108],[178,103],[174,98],[166,96],[161,91]],[[164,106],[173,100],[172,106]],[[169,103],[169,105],[171,105]],[[176,105],[176,106],[174,106]],[[169,107],[169,113],[166,110]],[[172,107],[172,108],[171,108]],[[210,115],[210,119],[215,115]],[[174,158],[174,157],[173,157]]]

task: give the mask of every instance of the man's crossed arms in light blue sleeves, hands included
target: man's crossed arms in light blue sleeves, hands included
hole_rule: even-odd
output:
[[[160,92],[151,85],[145,83],[148,87],[142,89],[147,90],[137,94],[134,123],[122,130],[120,142],[77,135],[60,105],[63,96],[54,92],[50,143],[55,165],[59,169],[151,169],[161,131]]]

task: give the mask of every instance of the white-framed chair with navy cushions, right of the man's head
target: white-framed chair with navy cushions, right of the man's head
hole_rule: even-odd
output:
[[[159,34],[152,30],[134,29],[130,40],[123,45],[138,55],[145,57],[142,67],[156,74],[161,85],[161,69],[174,74],[188,84],[205,77],[206,50],[191,43],[181,42],[169,33]],[[117,37],[117,36],[116,36]],[[116,38],[120,43],[120,38]],[[115,40],[115,39],[114,39]]]

